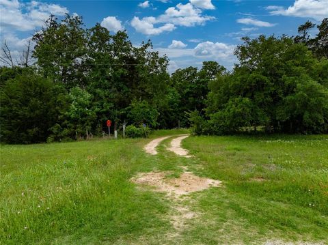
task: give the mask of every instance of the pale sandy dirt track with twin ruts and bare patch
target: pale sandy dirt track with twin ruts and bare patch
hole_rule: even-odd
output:
[[[181,146],[182,140],[186,139],[188,136],[189,134],[178,135],[177,138],[171,141],[170,147],[167,149],[178,156],[190,158],[191,156],[187,149]],[[150,141],[150,143],[144,147],[145,151],[148,154],[156,155],[156,147],[169,137],[172,136],[165,136]],[[164,171],[139,173],[131,179],[135,184],[139,184],[140,186],[148,186],[154,191],[166,192],[167,197],[173,201],[174,205],[172,206],[171,214],[169,214],[169,220],[172,222],[175,232],[168,233],[167,240],[172,238],[176,239],[184,229],[187,229],[188,220],[199,218],[200,216],[197,212],[192,212],[189,205],[182,204],[181,200],[189,199],[188,196],[192,192],[200,192],[210,187],[221,186],[221,182],[218,180],[199,177],[187,171],[187,167],[179,167],[184,170],[180,177],[168,177],[172,172]]]

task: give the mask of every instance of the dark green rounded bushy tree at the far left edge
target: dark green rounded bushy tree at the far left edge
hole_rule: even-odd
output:
[[[1,141],[40,143],[46,141],[59,117],[62,89],[36,74],[10,79],[0,92]]]

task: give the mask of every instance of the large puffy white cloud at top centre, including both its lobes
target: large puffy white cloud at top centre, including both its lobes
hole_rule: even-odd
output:
[[[191,3],[178,3],[174,7],[167,8],[164,14],[157,17],[149,16],[140,19],[135,16],[131,20],[131,25],[143,34],[158,35],[163,31],[173,31],[177,26],[194,27],[204,25],[208,20],[213,19],[215,19],[213,16],[203,15],[202,10]]]

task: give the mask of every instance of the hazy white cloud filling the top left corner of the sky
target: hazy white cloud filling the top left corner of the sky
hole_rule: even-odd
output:
[[[44,20],[51,14],[64,16],[67,8],[53,3],[31,1],[29,3],[18,0],[0,0],[1,32],[2,31],[32,31],[44,25]]]

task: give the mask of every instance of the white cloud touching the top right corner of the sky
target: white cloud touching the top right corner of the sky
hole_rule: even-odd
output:
[[[328,16],[328,0],[296,0],[286,9],[282,6],[268,6],[267,10],[271,10],[270,14],[273,15],[314,18],[320,21]]]

